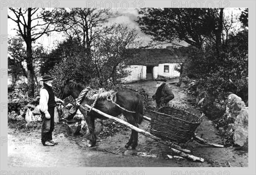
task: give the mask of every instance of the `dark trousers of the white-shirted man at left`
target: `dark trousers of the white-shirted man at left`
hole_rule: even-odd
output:
[[[52,140],[52,131],[54,130],[54,108],[55,107],[48,107],[48,112],[51,116],[50,119],[45,117],[45,114],[42,114],[42,132],[41,132],[41,141],[44,144],[48,140]]]

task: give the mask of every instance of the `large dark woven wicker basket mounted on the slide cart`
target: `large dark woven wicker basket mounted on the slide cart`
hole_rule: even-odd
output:
[[[201,118],[184,110],[165,106],[152,111],[150,133],[164,140],[184,144],[191,140],[201,121]]]

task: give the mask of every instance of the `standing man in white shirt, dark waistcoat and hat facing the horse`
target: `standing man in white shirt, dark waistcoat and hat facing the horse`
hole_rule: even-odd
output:
[[[54,146],[58,142],[52,140],[52,131],[54,129],[54,108],[56,102],[64,103],[61,99],[54,96],[52,90],[53,78],[49,75],[44,75],[41,79],[43,88],[40,90],[39,108],[42,114],[42,132],[41,142],[44,146]]]

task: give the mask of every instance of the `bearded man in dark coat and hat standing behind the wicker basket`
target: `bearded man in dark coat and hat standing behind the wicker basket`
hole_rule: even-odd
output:
[[[168,106],[169,101],[174,99],[172,89],[166,85],[166,79],[157,78],[157,92],[152,96],[153,100],[156,100],[157,108],[162,106]]]

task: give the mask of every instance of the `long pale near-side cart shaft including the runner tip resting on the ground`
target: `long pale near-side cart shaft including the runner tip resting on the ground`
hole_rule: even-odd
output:
[[[85,107],[88,107],[88,108],[90,108],[90,109],[92,109],[92,110],[94,110],[95,112],[101,114],[102,116],[105,116],[105,117],[107,117],[107,118],[109,118],[109,119],[113,119],[113,120],[116,121],[116,122],[119,122],[119,123],[121,123],[121,124],[124,124],[124,125],[130,127],[132,130],[135,130],[135,131],[137,131],[138,133],[141,133],[141,134],[143,134],[143,135],[145,135],[145,136],[147,136],[147,137],[149,137],[149,138],[153,138],[154,140],[158,141],[159,143],[166,144],[166,145],[170,146],[170,143],[171,143],[171,142],[168,143],[168,142],[166,142],[166,141],[163,141],[161,138],[158,138],[158,137],[152,135],[151,133],[148,133],[147,131],[144,131],[144,130],[142,130],[142,129],[140,129],[140,128],[137,128],[137,127],[135,127],[134,125],[129,124],[129,123],[126,122],[126,121],[123,121],[123,120],[118,119],[118,118],[116,118],[116,117],[110,116],[110,115],[108,115],[108,114],[106,114],[106,113],[103,113],[102,111],[97,110],[97,109],[95,109],[94,107],[90,107],[90,106],[87,105],[87,104],[84,104],[84,106],[85,106]],[[184,153],[183,151],[180,151],[180,150],[175,149],[174,146],[175,146],[175,144],[172,144],[172,150],[175,151],[175,152],[177,152],[177,153],[180,153],[180,156],[183,156],[183,157],[185,157],[185,158],[190,158],[190,159],[192,159],[193,161],[201,161],[201,162],[204,162],[204,159],[203,159],[203,158],[198,158],[198,157],[195,157],[194,155],[186,154],[186,153]],[[178,145],[177,145],[177,146],[178,146]],[[179,147],[179,146],[178,146],[178,147]],[[183,149],[182,149],[182,150],[183,150]],[[187,151],[191,152],[190,150],[187,150]]]

